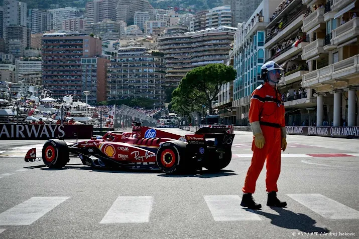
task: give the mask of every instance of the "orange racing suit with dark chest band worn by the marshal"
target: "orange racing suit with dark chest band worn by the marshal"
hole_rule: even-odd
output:
[[[281,171],[281,127],[285,127],[285,108],[281,96],[269,83],[259,86],[251,98],[249,112],[250,123],[259,121],[265,144],[257,148],[252,142],[253,157],[248,169],[244,193],[254,193],[256,181],[261,173],[264,161],[267,159],[267,192],[278,191],[277,180]]]

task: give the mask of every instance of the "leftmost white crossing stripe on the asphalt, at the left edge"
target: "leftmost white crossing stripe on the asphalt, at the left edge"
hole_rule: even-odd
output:
[[[0,213],[0,225],[30,225],[69,197],[32,197]]]

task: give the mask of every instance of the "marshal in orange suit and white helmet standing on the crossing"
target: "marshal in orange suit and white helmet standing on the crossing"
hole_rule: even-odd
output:
[[[281,150],[287,147],[285,130],[285,108],[279,94],[278,85],[284,84],[283,69],[277,63],[269,61],[262,66],[261,77],[264,84],[253,93],[249,120],[253,131],[251,166],[248,169],[241,205],[251,209],[260,209],[252,194],[256,182],[267,160],[266,186],[268,206],[285,207],[286,202],[277,198],[277,180],[281,171]]]

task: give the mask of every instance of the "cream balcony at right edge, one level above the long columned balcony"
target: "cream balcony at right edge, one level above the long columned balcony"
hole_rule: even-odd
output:
[[[332,31],[332,45],[339,45],[353,39],[356,42],[356,37],[359,35],[359,18],[350,20]]]

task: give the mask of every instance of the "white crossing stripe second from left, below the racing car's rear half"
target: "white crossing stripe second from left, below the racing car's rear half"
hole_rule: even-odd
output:
[[[149,222],[152,204],[152,196],[119,196],[100,223]]]

